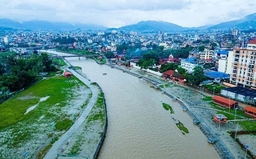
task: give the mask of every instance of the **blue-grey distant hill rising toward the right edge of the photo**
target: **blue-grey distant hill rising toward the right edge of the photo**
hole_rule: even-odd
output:
[[[253,21],[253,22],[252,22]],[[251,25],[251,28],[256,28],[256,13],[247,15],[240,20],[233,20],[229,22],[223,22],[214,26],[209,27],[208,29],[229,29],[229,28],[237,28],[241,30],[248,29],[247,24]]]

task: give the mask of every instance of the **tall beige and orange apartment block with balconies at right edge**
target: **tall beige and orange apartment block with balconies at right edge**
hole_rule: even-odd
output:
[[[256,39],[247,48],[234,48],[230,82],[242,87],[256,87]]]

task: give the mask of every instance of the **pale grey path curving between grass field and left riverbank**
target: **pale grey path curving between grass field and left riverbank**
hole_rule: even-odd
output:
[[[76,131],[77,128],[83,123],[87,115],[90,113],[92,107],[94,106],[95,102],[97,101],[99,89],[94,87],[94,85],[90,85],[91,82],[85,79],[80,74],[76,73],[74,70],[69,70],[72,74],[75,74],[77,78],[79,78],[83,83],[85,83],[88,87],[90,87],[92,91],[92,98],[90,98],[89,103],[85,110],[81,113],[81,116],[74,122],[74,124],[70,127],[65,134],[63,134],[54,144],[52,148],[49,149],[47,154],[45,155],[44,159],[55,159],[58,157],[58,153],[61,151],[61,147],[67,142],[69,137]]]

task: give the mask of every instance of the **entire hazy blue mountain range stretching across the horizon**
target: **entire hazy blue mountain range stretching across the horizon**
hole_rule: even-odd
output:
[[[122,31],[140,31],[151,32],[156,30],[164,30],[164,32],[176,32],[182,30],[200,30],[200,29],[238,29],[248,30],[256,28],[256,13],[247,15],[239,20],[233,20],[228,22],[222,22],[217,25],[207,25],[193,28],[186,28],[177,24],[163,22],[163,21],[141,21],[137,24],[128,26],[122,26],[120,28],[107,28],[105,26],[99,26],[95,24],[70,24],[68,22],[47,22],[47,21],[28,21],[28,22],[14,22],[10,19],[0,19],[1,28],[15,28],[15,29],[28,29],[28,30],[122,30]]]

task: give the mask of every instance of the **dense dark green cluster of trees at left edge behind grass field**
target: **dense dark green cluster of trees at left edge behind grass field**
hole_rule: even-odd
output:
[[[29,57],[18,57],[16,52],[2,52],[0,58],[0,90],[18,91],[38,81],[40,72],[56,71],[52,60],[46,53],[40,56],[31,54]]]

